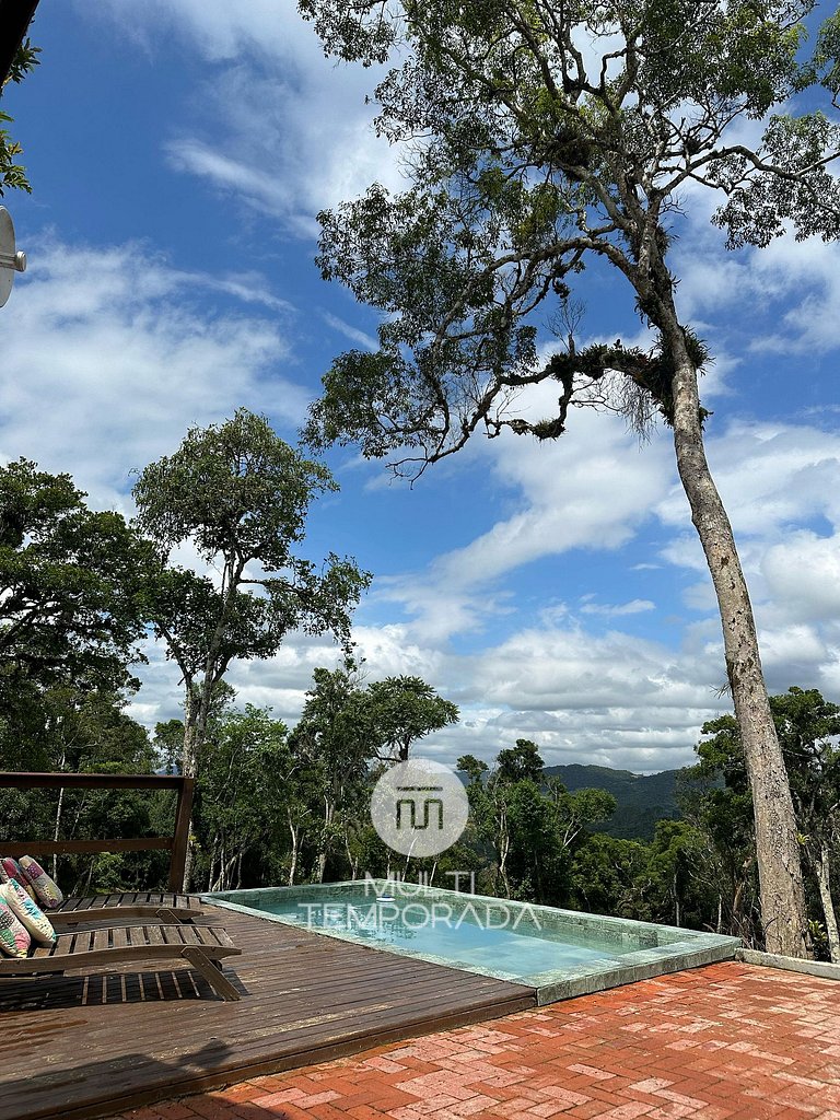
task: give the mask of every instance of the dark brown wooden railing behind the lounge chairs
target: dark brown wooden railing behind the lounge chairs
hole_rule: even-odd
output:
[[[122,840],[16,840],[0,836],[0,856],[74,856],[101,851],[168,851],[169,890],[180,890],[189,842],[195,780],[179,774],[19,774],[0,772],[0,790],[177,790],[170,837]]]

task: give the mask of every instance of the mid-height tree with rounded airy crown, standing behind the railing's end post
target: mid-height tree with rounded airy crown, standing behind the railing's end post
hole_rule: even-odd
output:
[[[192,544],[217,578],[162,567],[148,610],[186,691],[184,772],[195,773],[214,691],[234,660],[269,657],[287,634],[349,641],[349,612],[370,577],[330,554],[297,554],[312,498],[335,491],[326,467],[302,458],[246,409],[192,429],[180,448],[140,474],[137,524],[162,559]]]

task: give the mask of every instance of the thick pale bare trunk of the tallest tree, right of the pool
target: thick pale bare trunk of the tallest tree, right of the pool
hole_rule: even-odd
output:
[[[786,956],[808,956],[796,820],[764,682],[753,607],[732,529],[706,459],[697,371],[675,312],[666,316],[661,328],[675,365],[676,466],[720,608],[727,674],[753,790],[766,948]]]

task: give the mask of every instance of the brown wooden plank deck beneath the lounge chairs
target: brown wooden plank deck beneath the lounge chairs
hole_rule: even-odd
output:
[[[82,1120],[535,1005],[532,988],[206,907],[227,1004],[188,969],[0,983],[0,1120]]]

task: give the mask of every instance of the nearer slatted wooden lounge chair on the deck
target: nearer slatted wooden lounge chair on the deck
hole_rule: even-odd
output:
[[[221,960],[241,953],[217,925],[118,925],[106,930],[59,933],[52,945],[29,956],[0,959],[0,980],[20,981],[44,972],[103,969],[140,961],[185,961],[222,999],[240,993],[222,973]]]

